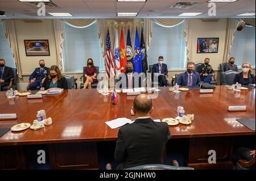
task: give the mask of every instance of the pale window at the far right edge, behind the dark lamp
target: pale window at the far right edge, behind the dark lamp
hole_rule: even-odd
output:
[[[236,31],[230,57],[236,58],[238,68],[243,62],[255,67],[255,27],[246,26],[243,31]]]

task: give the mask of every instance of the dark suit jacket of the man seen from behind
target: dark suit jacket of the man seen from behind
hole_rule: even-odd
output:
[[[162,164],[162,155],[171,137],[167,123],[151,118],[137,119],[119,129],[115,146],[115,160],[122,162],[117,169],[144,164]]]

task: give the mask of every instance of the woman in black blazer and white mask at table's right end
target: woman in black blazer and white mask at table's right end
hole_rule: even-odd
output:
[[[255,83],[255,78],[253,74],[251,74],[251,64],[248,62],[242,65],[242,72],[236,74],[233,83],[236,84],[237,82],[241,85],[249,85],[250,83]]]

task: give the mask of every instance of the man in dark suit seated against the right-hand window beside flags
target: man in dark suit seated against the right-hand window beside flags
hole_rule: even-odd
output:
[[[154,64],[152,67],[152,74],[151,74],[152,81],[154,81],[155,73],[158,76],[159,86],[160,87],[168,86],[167,78],[166,78],[166,75],[168,74],[168,69],[167,69],[167,65],[163,64],[162,56],[158,58],[158,64]]]

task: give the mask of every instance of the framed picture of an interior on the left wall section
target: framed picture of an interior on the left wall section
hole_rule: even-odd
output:
[[[26,56],[49,56],[48,40],[24,40]]]

